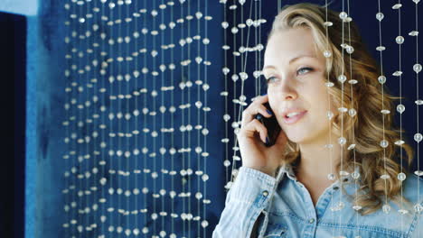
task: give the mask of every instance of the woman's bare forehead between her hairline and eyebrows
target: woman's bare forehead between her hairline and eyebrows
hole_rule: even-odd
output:
[[[318,57],[315,39],[308,28],[277,31],[268,40],[264,61],[266,64],[287,64],[290,59],[307,55]]]

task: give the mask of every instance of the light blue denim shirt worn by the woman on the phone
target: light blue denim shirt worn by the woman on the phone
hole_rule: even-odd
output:
[[[416,212],[414,207],[423,206],[423,183],[419,181],[423,179],[409,173],[402,182],[402,195],[409,205],[404,201],[401,207],[388,200],[388,214],[379,209],[360,215],[352,208],[353,197],[343,194],[343,188],[350,195],[356,189],[351,174],[334,181],[314,205],[289,164],[278,169],[276,178],[240,167],[212,237],[423,237],[423,211]],[[400,214],[401,208],[408,213]],[[256,221],[258,233],[251,236]]]

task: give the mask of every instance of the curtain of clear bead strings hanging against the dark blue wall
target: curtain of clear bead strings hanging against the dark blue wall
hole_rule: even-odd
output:
[[[381,15],[374,14],[381,10],[373,2],[374,9],[367,9],[371,17],[354,18],[359,26],[372,19],[377,27]],[[52,5],[61,11],[50,19],[62,20],[52,36],[63,41],[49,49],[60,71],[51,106],[60,108],[52,117],[61,120],[61,130],[46,157],[61,160],[52,161],[51,175],[41,176],[50,179],[43,187],[62,189],[43,200],[49,211],[37,212],[44,218],[41,231],[60,230],[61,237],[211,237],[240,166],[235,140],[240,113],[251,97],[265,93],[259,70],[271,20],[282,4],[268,5],[242,0]],[[356,5],[352,14],[345,9],[345,18],[359,12]],[[379,35],[363,31],[371,47],[375,43],[372,49],[380,46]],[[408,37],[418,39],[412,32]],[[398,59],[393,48],[388,54]],[[416,61],[402,62],[411,66],[404,74],[411,75]],[[393,87],[396,95],[402,92]],[[409,105],[421,105],[414,100]],[[411,138],[418,123],[412,120]]]

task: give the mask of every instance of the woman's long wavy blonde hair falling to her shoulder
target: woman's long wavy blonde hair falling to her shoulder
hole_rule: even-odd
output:
[[[355,167],[360,169],[362,181],[361,187],[355,195],[357,199],[356,205],[362,206],[362,209],[359,210],[361,215],[368,215],[381,208],[381,196],[384,197],[386,195],[392,201],[400,204],[401,181],[397,178],[397,175],[400,173],[401,167],[394,160],[400,157],[399,152],[395,150],[394,144],[394,142],[400,140],[400,130],[392,129],[392,113],[383,115],[384,119],[382,119],[381,114],[382,105],[383,109],[394,112],[392,100],[400,99],[400,97],[390,96],[390,94],[386,93],[387,88],[384,87],[384,98],[382,101],[381,84],[378,81],[378,77],[381,74],[379,66],[371,58],[368,50],[365,49],[355,24],[353,22],[350,23],[351,45],[354,49],[353,54],[351,54],[352,69],[350,69],[350,55],[346,52],[342,54],[341,51],[343,42],[349,44],[349,36],[347,31],[345,31],[344,36],[342,34],[343,23],[339,18],[339,13],[327,10],[327,21],[333,23],[329,27],[328,38],[326,38],[324,26],[325,19],[326,10],[323,6],[313,4],[287,5],[277,14],[268,39],[277,31],[305,27],[311,30],[317,50],[322,53],[324,50],[331,51],[332,56],[326,60],[326,74],[329,72],[329,80],[334,83],[334,87],[328,88],[332,102],[335,105],[341,105],[343,100],[343,105],[349,105],[348,107],[357,110],[357,114],[353,117],[343,116],[343,135],[347,142],[353,142],[354,135],[355,164],[353,150],[346,151],[346,158],[343,159],[343,166],[346,165],[346,168],[340,168],[341,164],[339,162],[336,165],[335,174],[338,175],[340,169],[347,171],[353,171]],[[347,28],[347,24],[345,23],[344,27]],[[352,75],[350,75],[350,70]],[[353,85],[353,102],[350,90],[344,90],[342,97],[342,84],[337,80],[337,77],[341,74],[344,74],[349,79],[358,80],[358,83]],[[344,84],[346,83],[347,81]],[[336,114],[332,123],[339,132],[341,132],[340,117],[341,114]],[[385,140],[389,142],[385,151],[380,145],[381,140],[383,140],[383,130]],[[335,139],[335,141],[337,140]],[[400,146],[407,152],[410,165],[413,159],[411,147],[407,143]],[[291,163],[299,155],[300,151],[297,144],[288,140],[284,162]],[[383,158],[386,158],[386,171]],[[402,169],[404,169],[404,173],[408,173],[405,168]],[[380,178],[385,173],[390,175],[390,178],[386,179],[386,190],[385,179]],[[365,190],[367,189],[368,191],[366,192]],[[409,203],[407,199],[402,198],[406,203]]]

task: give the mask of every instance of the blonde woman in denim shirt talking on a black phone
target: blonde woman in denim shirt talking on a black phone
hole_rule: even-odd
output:
[[[390,130],[392,113],[381,114],[394,112],[398,97],[385,93],[382,105],[381,71],[358,30],[350,23],[351,43],[343,40],[339,13],[327,14],[328,39],[324,7],[290,5],[277,15],[263,68],[268,94],[242,114],[242,167],[213,237],[423,237],[420,178],[400,166],[399,131]],[[265,146],[256,114],[276,117],[275,145]],[[413,151],[400,146],[410,164]]]

